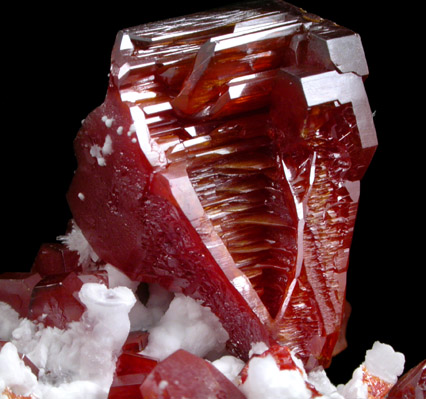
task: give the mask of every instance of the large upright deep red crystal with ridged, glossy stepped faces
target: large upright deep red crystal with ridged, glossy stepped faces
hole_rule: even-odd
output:
[[[210,307],[231,353],[327,366],[377,145],[367,74],[357,34],[281,1],[125,29],[75,141],[73,218],[105,262]]]

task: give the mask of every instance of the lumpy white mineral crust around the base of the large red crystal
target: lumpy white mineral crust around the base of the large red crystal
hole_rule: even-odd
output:
[[[34,399],[107,399],[117,355],[132,329],[150,333],[142,354],[162,360],[184,349],[208,358],[247,399],[311,399],[315,395],[308,384],[321,399],[368,399],[365,373],[391,386],[403,372],[404,355],[379,342],[367,351],[351,380],[337,388],[324,369],[306,373],[294,355],[296,368],[280,370],[272,355],[262,356],[268,349],[263,342],[252,344],[252,358],[244,363],[226,354],[228,334],[209,308],[184,295],[173,296],[157,284],[149,285],[144,305],[136,298],[139,283],[114,266],[105,269],[110,288],[84,284],[79,297],[87,310],[66,330],[19,318],[0,303],[0,340],[9,341],[0,351],[0,399],[5,399],[1,392],[6,388]],[[22,354],[37,366],[38,378]],[[247,378],[242,382],[244,367]]]

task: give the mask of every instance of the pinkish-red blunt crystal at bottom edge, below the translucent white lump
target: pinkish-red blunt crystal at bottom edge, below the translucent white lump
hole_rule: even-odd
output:
[[[241,391],[204,359],[178,350],[158,363],[140,387],[143,398],[244,399]]]

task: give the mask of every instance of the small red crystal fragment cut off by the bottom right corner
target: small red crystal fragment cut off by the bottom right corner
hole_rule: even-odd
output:
[[[407,371],[392,387],[387,399],[424,399],[426,397],[426,359]]]

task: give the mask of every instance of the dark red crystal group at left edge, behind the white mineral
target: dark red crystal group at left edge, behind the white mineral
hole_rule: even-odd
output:
[[[43,244],[30,273],[0,274],[0,302],[21,317],[64,329],[85,311],[78,297],[84,283],[108,286],[108,274],[94,264],[83,270],[78,253],[62,244]]]

